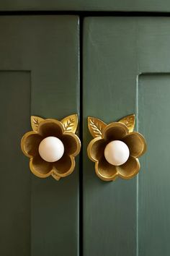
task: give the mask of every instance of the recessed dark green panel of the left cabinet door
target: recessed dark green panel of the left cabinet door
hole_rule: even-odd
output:
[[[0,88],[0,255],[30,256],[31,174],[19,145],[29,127],[30,72],[0,72]]]

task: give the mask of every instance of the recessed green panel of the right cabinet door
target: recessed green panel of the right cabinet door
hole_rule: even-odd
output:
[[[169,256],[170,74],[143,74],[138,89],[139,129],[148,141],[138,181],[139,256]]]

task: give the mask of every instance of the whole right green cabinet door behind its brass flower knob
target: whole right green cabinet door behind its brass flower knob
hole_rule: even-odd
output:
[[[166,17],[84,20],[84,256],[170,253],[169,29]],[[87,116],[133,113],[148,142],[140,174],[102,182],[87,159]]]

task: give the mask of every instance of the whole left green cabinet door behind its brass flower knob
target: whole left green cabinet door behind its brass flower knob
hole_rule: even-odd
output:
[[[0,31],[0,255],[76,256],[79,161],[60,182],[37,178],[20,139],[31,114],[79,114],[79,17],[0,17]]]

